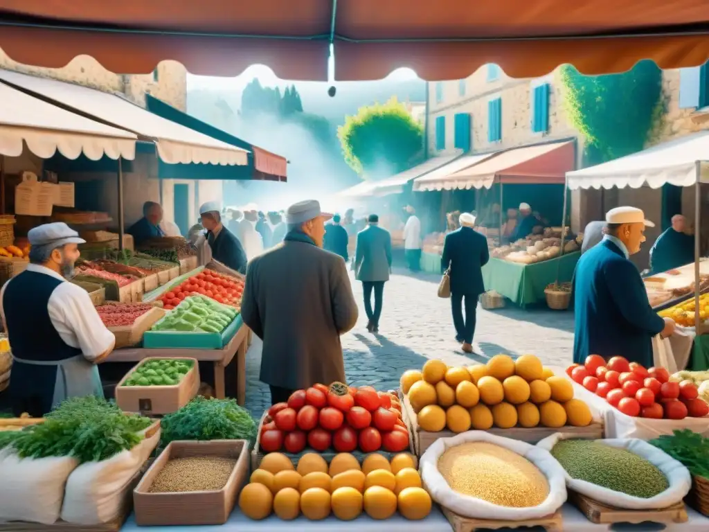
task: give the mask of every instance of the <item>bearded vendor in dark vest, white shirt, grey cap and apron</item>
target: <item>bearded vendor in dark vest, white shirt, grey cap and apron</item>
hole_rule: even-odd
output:
[[[13,355],[13,414],[42,417],[69,397],[104,397],[96,364],[113,350],[88,292],[67,282],[84,243],[65,223],[30,230],[30,264],[0,291]]]

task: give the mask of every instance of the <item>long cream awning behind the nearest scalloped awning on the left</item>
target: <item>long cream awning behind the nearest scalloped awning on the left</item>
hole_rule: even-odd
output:
[[[84,116],[152,140],[160,159],[168,164],[243,166],[248,162],[247,150],[162,118],[121,96],[9,70],[0,70],[0,79]]]

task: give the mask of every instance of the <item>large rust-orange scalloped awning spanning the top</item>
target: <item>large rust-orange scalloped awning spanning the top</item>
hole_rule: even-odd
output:
[[[263,64],[284,79],[324,80],[330,41],[340,80],[399,67],[432,80],[489,62],[535,77],[564,63],[602,74],[642,59],[662,68],[709,59],[704,0],[0,0],[0,24],[14,60],[62,67],[87,54],[120,73],[177,60],[194,74]]]

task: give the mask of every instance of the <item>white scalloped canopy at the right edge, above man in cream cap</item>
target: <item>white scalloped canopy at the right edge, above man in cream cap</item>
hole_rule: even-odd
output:
[[[686,135],[602,165],[566,172],[569,189],[637,189],[647,183],[657,189],[665,183],[688,187],[697,179],[709,182],[709,131]],[[700,175],[697,175],[697,164]]]

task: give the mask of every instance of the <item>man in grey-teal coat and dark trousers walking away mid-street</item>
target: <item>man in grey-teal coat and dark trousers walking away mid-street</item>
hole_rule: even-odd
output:
[[[364,289],[364,311],[367,312],[367,331],[379,333],[384,283],[391,270],[391,235],[379,227],[379,216],[370,214],[369,225],[357,233],[357,251],[354,253],[354,272]],[[374,290],[374,311],[372,291]]]

